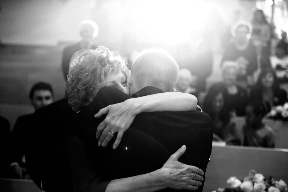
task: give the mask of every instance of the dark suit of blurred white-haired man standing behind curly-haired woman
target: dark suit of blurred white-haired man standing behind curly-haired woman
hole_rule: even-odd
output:
[[[90,49],[95,49],[96,47],[97,47],[96,45],[93,45],[93,46],[91,46]],[[70,45],[70,46],[67,46],[63,49],[61,65],[62,65],[62,73],[63,73],[64,79],[66,82],[67,82],[67,75],[69,73],[70,59],[75,52],[77,52],[81,49],[82,49],[82,47],[81,47],[80,42],[73,44],[73,45]]]

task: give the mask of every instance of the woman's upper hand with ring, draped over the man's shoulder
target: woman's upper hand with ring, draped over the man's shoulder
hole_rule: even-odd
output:
[[[116,149],[121,142],[124,132],[130,127],[138,114],[136,109],[137,106],[133,102],[126,100],[122,103],[109,105],[99,110],[94,116],[95,118],[99,118],[107,113],[108,115],[104,121],[98,125],[96,131],[96,138],[100,138],[98,146],[107,146],[114,134],[118,132],[117,139],[113,144],[113,149]]]

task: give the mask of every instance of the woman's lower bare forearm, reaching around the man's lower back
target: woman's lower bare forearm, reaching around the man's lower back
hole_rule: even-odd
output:
[[[112,180],[105,191],[156,191],[167,186],[159,178],[161,170],[143,175]]]

